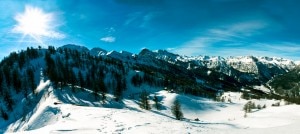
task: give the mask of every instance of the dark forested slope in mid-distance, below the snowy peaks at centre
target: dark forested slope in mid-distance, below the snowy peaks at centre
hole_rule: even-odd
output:
[[[136,74],[132,77],[133,85],[139,87],[142,83],[164,87],[168,91],[174,91],[184,94],[214,98],[216,91],[197,83],[197,73],[188,71],[183,67],[160,61],[162,68],[153,66],[135,64],[134,70],[144,72],[144,75]]]

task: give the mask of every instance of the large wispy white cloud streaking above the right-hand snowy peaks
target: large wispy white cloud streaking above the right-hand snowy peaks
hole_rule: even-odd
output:
[[[193,38],[184,44],[169,49],[184,55],[200,55],[200,54],[221,54],[220,51],[225,49],[233,49],[249,45],[251,37],[258,35],[259,30],[267,27],[267,24],[262,21],[244,21],[234,24],[222,25],[216,28],[205,30],[201,35]],[[232,53],[239,53],[233,51]]]

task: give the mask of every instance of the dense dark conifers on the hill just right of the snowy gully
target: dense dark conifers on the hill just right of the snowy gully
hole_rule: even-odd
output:
[[[113,93],[115,100],[120,101],[127,88],[125,67],[115,59],[92,56],[88,52],[69,48],[55,50],[50,46],[45,61],[45,74],[55,88],[71,86],[73,92],[75,86],[91,89],[94,98],[101,96],[102,101],[105,101],[107,93]]]

